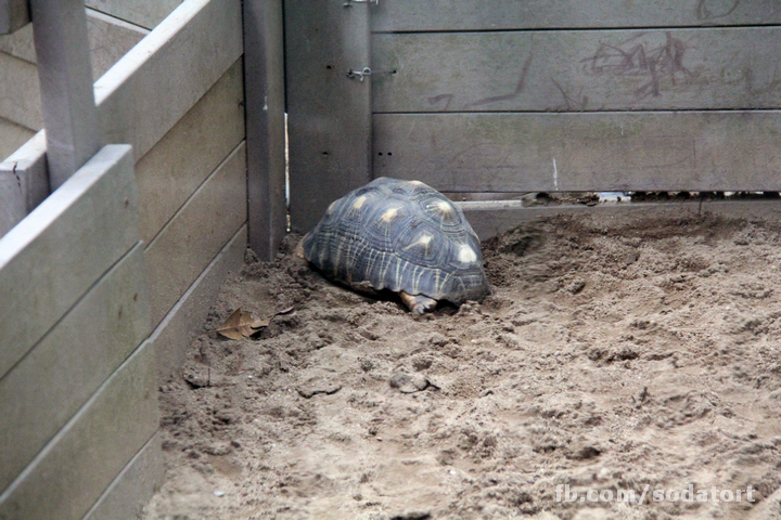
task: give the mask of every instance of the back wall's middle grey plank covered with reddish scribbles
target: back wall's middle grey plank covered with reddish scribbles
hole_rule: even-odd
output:
[[[651,2],[653,3],[653,2]],[[781,107],[781,27],[372,37],[372,109]]]

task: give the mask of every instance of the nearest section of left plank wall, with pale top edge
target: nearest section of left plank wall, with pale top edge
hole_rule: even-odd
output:
[[[157,429],[138,211],[110,145],[0,239],[0,518],[82,518]]]

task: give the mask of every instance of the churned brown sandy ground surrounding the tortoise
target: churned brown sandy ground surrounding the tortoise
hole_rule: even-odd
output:
[[[527,223],[484,243],[490,297],[422,318],[331,285],[293,239],[248,258],[204,329],[295,310],[192,342],[143,518],[781,518],[780,231],[677,209]]]

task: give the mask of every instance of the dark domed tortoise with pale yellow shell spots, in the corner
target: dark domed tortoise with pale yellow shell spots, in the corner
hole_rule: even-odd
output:
[[[383,177],[333,202],[298,255],[356,290],[398,292],[419,314],[440,300],[459,306],[488,294],[479,239],[463,211],[420,181]]]

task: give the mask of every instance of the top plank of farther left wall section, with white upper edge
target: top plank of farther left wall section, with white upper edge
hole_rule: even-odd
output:
[[[94,84],[106,142],[154,146],[242,54],[240,0],[190,0]]]

